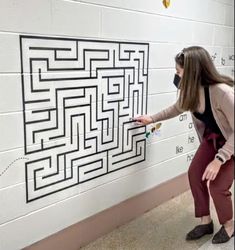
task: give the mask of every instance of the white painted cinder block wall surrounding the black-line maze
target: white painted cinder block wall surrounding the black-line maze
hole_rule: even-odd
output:
[[[0,250],[21,249],[187,171],[198,141],[186,113],[147,139],[145,162],[26,202],[19,35],[149,43],[151,114],[176,100],[174,56],[186,46],[204,46],[234,75],[233,0],[171,2],[0,0]]]

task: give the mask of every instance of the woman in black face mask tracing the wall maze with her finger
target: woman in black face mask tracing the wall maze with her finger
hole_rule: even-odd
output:
[[[186,240],[199,239],[214,231],[209,193],[214,201],[221,229],[212,243],[224,243],[234,236],[233,206],[229,191],[234,179],[234,82],[216,70],[209,53],[197,46],[183,49],[175,57],[174,84],[180,89],[177,102],[152,116],[135,118],[139,125],[170,119],[190,111],[200,146],[189,167],[195,217],[200,225]]]

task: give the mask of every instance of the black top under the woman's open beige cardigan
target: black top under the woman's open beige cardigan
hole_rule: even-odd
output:
[[[205,111],[204,113],[194,112],[194,116],[205,123],[206,128],[209,128],[212,132],[222,134],[218,127],[211,109],[209,87],[204,87],[205,92]]]

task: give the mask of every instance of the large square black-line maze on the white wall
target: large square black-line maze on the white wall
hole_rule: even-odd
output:
[[[145,160],[149,45],[20,36],[26,201]]]

